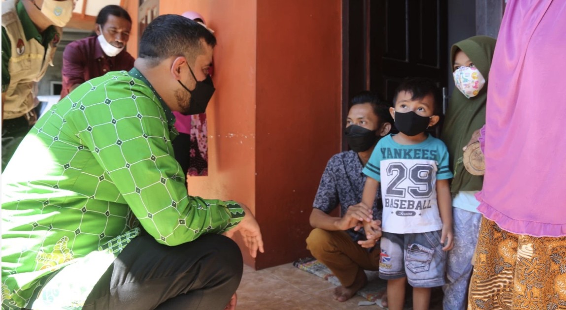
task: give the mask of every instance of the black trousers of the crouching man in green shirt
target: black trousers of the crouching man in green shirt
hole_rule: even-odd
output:
[[[242,272],[242,253],[226,236],[203,235],[169,247],[145,234],[118,255],[83,309],[222,310]]]

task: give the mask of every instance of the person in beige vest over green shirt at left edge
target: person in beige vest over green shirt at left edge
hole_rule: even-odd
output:
[[[74,0],[2,2],[2,171],[37,120],[36,83],[52,64]]]

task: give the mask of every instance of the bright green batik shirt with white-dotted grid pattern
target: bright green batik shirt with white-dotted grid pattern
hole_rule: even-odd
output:
[[[241,221],[234,201],[187,195],[174,121],[135,68],[85,82],[38,120],[2,174],[2,309],[80,309],[139,224],[175,246]]]

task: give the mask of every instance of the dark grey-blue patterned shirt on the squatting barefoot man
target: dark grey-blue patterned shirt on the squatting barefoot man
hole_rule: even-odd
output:
[[[362,162],[353,150],[332,156],[324,169],[312,206],[328,214],[340,205],[340,214],[345,214],[350,205],[362,201],[363,185],[366,183],[362,170]],[[374,200],[374,219],[381,219],[383,211],[380,194],[378,191]],[[349,229],[347,233],[354,241],[366,239],[363,229]]]

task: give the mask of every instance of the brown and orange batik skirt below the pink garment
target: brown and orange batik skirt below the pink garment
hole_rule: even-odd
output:
[[[566,309],[566,237],[533,237],[483,218],[468,309]]]

